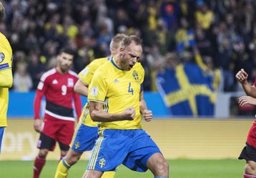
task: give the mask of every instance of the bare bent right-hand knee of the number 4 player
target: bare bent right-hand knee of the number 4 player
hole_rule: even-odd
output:
[[[169,165],[159,152],[155,153],[147,160],[147,167],[154,174],[154,177],[169,177]]]

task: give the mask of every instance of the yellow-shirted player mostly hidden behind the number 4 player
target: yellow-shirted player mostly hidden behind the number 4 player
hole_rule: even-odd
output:
[[[112,57],[117,55],[124,36],[126,35],[118,33],[116,36],[114,36],[114,38],[112,38],[112,41],[109,45],[111,52],[110,56],[107,58],[95,59],[79,73],[79,80],[74,85],[74,91],[76,93],[87,97],[88,86],[92,81],[92,76],[94,75],[95,70],[97,70],[99,66],[102,66],[104,63],[112,59]],[[95,140],[98,136],[98,123],[92,121],[88,110],[89,105],[86,104],[79,119],[79,125],[77,125],[76,128],[77,132],[74,133],[71,148],[69,149],[67,156],[64,157],[61,162],[59,162],[59,165],[56,169],[55,178],[67,177],[69,168],[77,163],[83,152],[92,150],[95,144]],[[114,171],[104,172],[102,177],[112,178],[114,177],[114,174]]]

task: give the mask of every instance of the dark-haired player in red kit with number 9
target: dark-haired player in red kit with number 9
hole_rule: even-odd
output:
[[[39,177],[46,162],[49,151],[53,151],[59,142],[62,159],[69,150],[69,144],[74,133],[74,115],[72,100],[77,112],[81,115],[82,102],[80,96],[74,93],[77,74],[69,68],[72,66],[74,51],[64,48],[57,56],[57,66],[41,76],[34,99],[34,130],[40,132],[37,147],[39,154],[34,161],[34,178]],[[44,124],[41,125],[39,116],[41,98],[45,95],[46,110]]]

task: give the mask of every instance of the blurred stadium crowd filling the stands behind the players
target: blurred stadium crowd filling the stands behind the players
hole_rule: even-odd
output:
[[[0,23],[14,53],[14,90],[36,89],[64,46],[77,50],[74,71],[109,55],[116,33],[142,37],[144,90],[157,90],[156,73],[170,58],[196,63],[195,48],[210,69],[222,71],[222,91],[237,90],[235,73],[256,76],[256,1],[250,0],[5,0]],[[176,60],[177,61],[177,60]]]

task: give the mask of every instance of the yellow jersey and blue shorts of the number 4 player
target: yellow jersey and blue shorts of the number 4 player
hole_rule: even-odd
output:
[[[144,68],[140,63],[136,63],[131,70],[122,70],[114,59],[104,63],[94,73],[89,85],[89,102],[103,103],[104,111],[112,114],[133,107],[136,115],[134,120],[100,123],[99,138],[87,169],[106,172],[124,164],[129,169],[145,172],[149,157],[160,152],[142,130],[139,95],[143,80]]]

